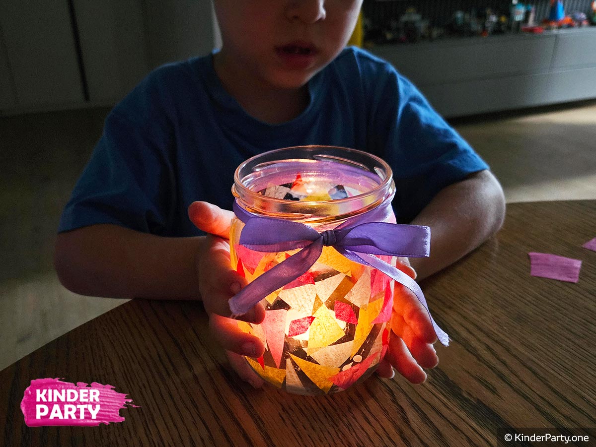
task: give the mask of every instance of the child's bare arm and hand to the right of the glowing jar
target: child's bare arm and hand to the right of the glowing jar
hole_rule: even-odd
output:
[[[409,260],[417,279],[430,276],[471,252],[496,233],[504,217],[501,185],[489,171],[471,174],[440,190],[412,221],[431,229],[430,258]],[[436,335],[426,309],[414,293],[399,285],[391,327],[389,352],[378,367],[379,375],[392,377],[394,367],[410,382],[424,382],[423,368],[433,368],[439,362],[433,348]]]

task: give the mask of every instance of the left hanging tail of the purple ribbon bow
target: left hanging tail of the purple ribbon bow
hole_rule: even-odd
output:
[[[265,296],[305,274],[321,256],[322,249],[323,242],[319,238],[244,286],[240,293],[229,299],[232,317],[246,314]]]

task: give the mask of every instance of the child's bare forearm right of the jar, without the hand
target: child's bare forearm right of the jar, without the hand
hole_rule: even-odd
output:
[[[447,186],[411,222],[431,229],[429,258],[410,258],[418,279],[430,276],[477,248],[505,218],[501,185],[489,171]]]

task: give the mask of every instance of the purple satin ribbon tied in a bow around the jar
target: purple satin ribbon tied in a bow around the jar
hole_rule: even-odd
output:
[[[275,290],[302,276],[321,256],[323,246],[333,246],[351,261],[377,268],[408,287],[429,312],[439,341],[449,345],[449,336],[430,315],[424,293],[407,274],[374,255],[427,257],[430,252],[430,228],[418,225],[393,224],[388,221],[393,211],[388,198],[373,210],[352,217],[333,230],[316,232],[308,225],[291,220],[261,217],[252,214],[234,201],[234,213],[244,223],[240,245],[254,251],[281,252],[302,248],[296,254],[272,267],[229,300],[232,315],[242,315]]]

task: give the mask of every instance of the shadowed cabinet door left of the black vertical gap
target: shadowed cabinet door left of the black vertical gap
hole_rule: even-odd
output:
[[[2,0],[0,27],[18,108],[84,102],[66,0]]]

